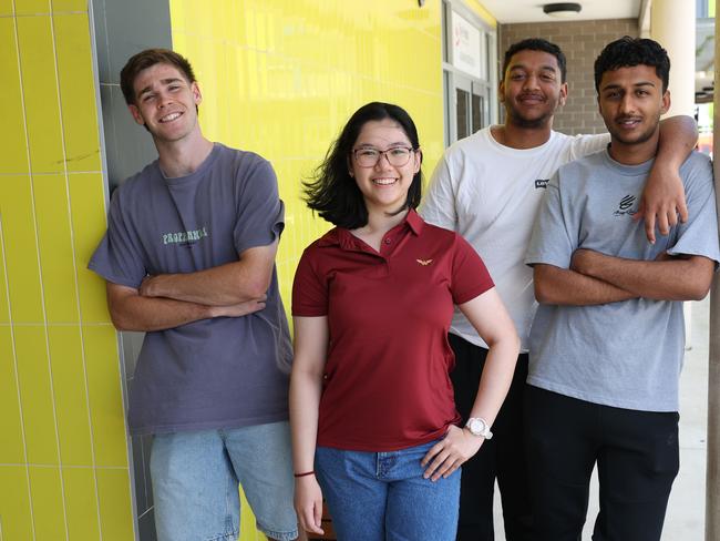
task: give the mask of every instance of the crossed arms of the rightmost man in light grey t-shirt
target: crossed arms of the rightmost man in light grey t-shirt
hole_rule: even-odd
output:
[[[703,256],[626,259],[577,249],[570,268],[535,264],[535,298],[543,304],[586,306],[630,298],[700,300],[710,289],[714,262]]]

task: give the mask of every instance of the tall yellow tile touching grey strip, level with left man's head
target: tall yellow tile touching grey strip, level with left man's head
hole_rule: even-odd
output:
[[[65,160],[69,171],[100,170],[90,22],[86,13],[54,17]]]

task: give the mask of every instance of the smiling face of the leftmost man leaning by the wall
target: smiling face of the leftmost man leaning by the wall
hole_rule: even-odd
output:
[[[135,104],[130,112],[158,142],[175,142],[199,133],[197,105],[203,101],[197,83],[165,63],[141,71],[133,83]]]

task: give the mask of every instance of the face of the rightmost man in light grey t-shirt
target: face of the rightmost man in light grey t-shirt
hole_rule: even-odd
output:
[[[660,115],[670,108],[670,93],[655,68],[639,64],[603,73],[598,105],[613,136],[611,147],[648,143],[655,153]]]

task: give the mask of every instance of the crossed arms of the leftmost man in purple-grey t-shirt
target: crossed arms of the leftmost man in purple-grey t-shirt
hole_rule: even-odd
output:
[[[277,245],[248,248],[237,262],[195,273],[148,276],[140,288],[107,282],[112,321],[119,330],[152,331],[261,310]]]

